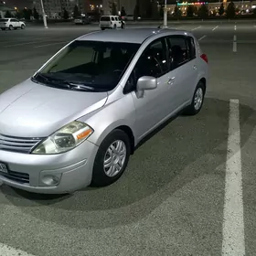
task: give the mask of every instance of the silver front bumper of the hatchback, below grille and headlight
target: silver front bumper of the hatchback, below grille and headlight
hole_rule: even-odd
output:
[[[98,146],[85,141],[59,155],[28,155],[0,150],[0,163],[8,173],[0,181],[8,186],[40,194],[64,194],[91,184],[92,168]],[[58,176],[55,186],[43,182],[46,176]]]

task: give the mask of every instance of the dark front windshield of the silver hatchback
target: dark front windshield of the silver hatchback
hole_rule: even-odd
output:
[[[112,91],[139,44],[76,40],[63,48],[32,80],[77,91]]]

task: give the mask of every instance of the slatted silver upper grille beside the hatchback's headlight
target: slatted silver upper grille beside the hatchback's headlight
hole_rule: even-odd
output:
[[[42,138],[18,138],[0,134],[0,150],[28,154],[41,140]]]

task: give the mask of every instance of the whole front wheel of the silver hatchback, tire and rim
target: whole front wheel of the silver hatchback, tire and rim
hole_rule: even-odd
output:
[[[122,130],[113,130],[102,141],[95,157],[91,186],[105,187],[117,181],[128,164],[131,143]]]

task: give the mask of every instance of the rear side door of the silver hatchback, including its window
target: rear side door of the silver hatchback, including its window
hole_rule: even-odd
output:
[[[172,83],[176,94],[176,108],[191,101],[197,85],[197,55],[193,37],[167,37]]]

